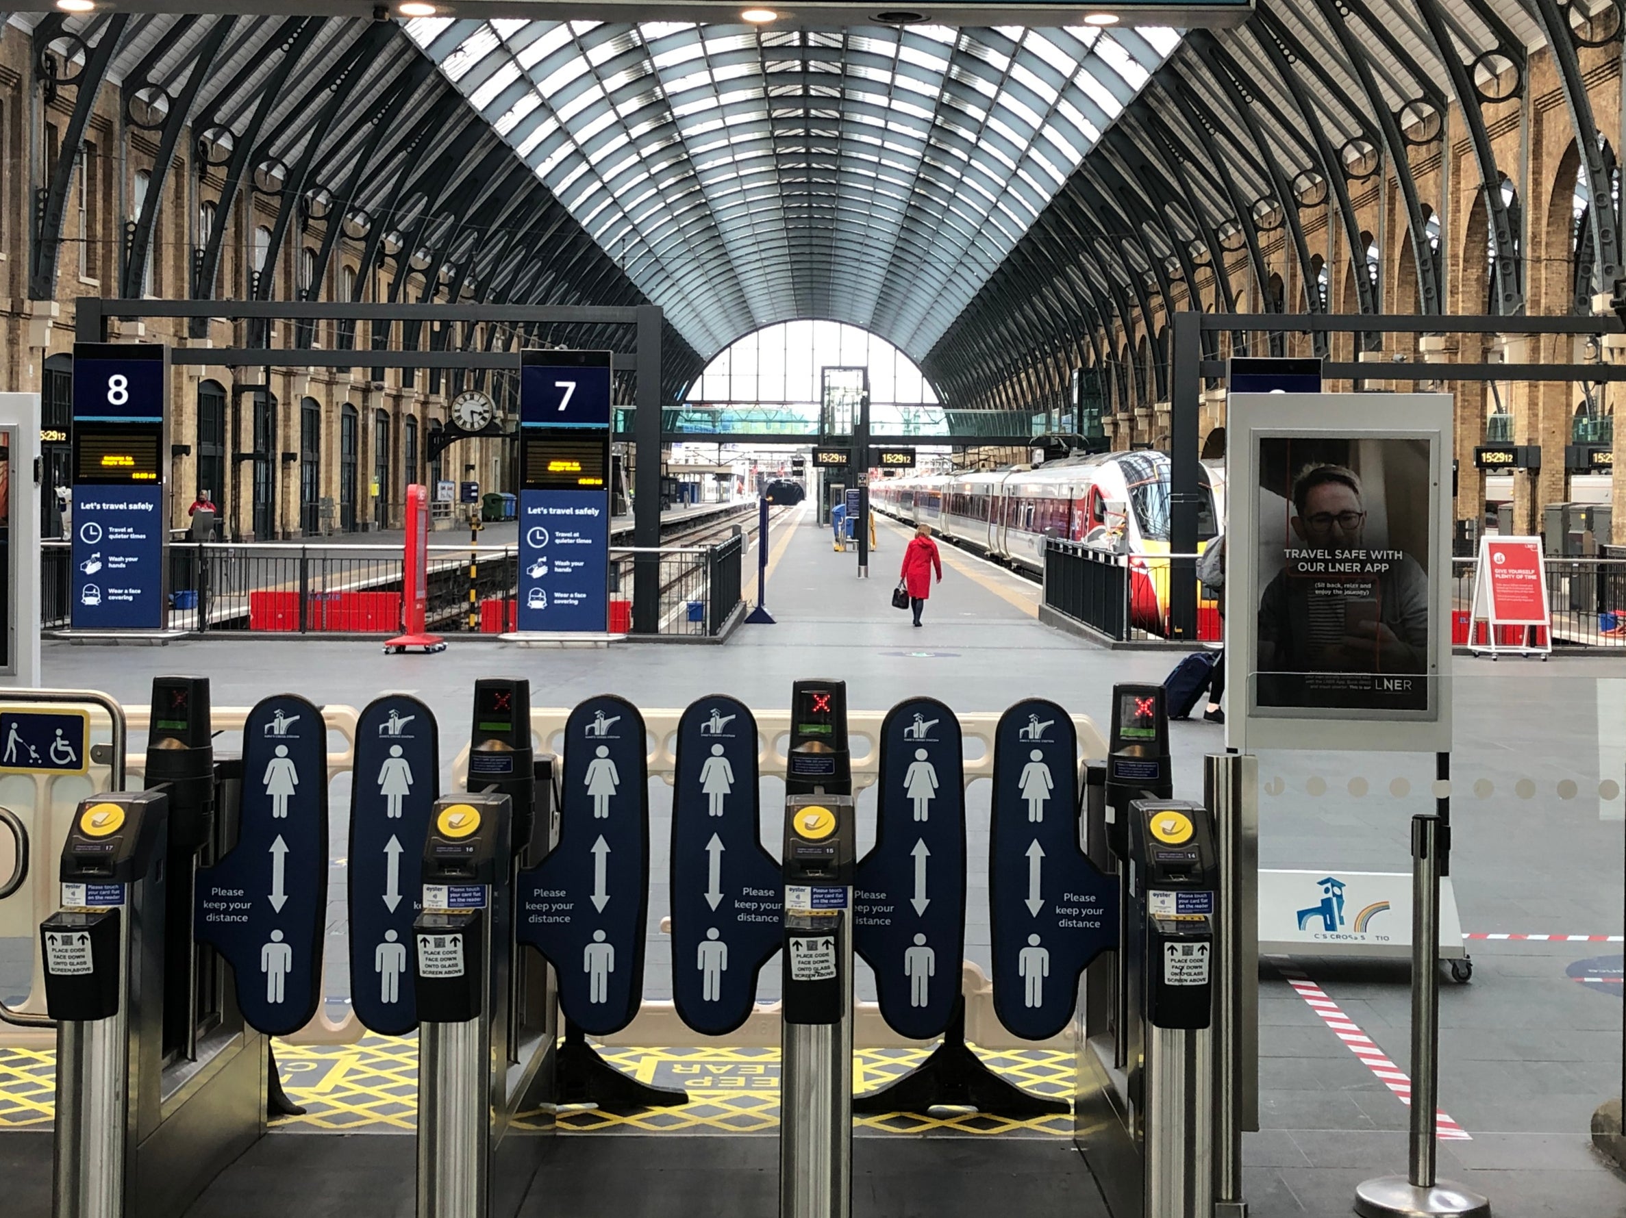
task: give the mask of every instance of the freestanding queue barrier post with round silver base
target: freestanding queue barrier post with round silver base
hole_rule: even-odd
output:
[[[1361,1218],[1489,1218],[1491,1203],[1436,1179],[1439,1114],[1439,877],[1444,824],[1411,818],[1411,1127],[1406,1176],[1382,1176],[1354,1190]]]

